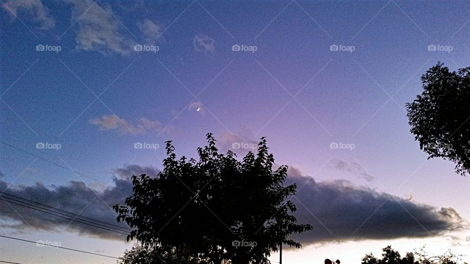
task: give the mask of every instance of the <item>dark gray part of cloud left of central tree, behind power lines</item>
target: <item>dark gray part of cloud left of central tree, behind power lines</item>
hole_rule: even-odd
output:
[[[52,186],[47,188],[41,183],[31,186],[8,186],[0,180],[0,190],[18,197],[37,201],[55,208],[59,208],[81,216],[93,218],[107,223],[118,223],[116,213],[112,206],[122,204],[125,198],[132,195],[132,182],[128,179],[114,179],[114,186],[101,192],[95,191],[84,182],[71,181],[65,186]],[[7,196],[8,197],[8,196]],[[106,239],[125,239],[125,235],[110,232],[94,226],[67,220],[37,210],[26,208],[12,203],[0,201],[0,228],[12,228],[17,231],[46,230],[62,232],[77,232],[81,235],[90,235]]]

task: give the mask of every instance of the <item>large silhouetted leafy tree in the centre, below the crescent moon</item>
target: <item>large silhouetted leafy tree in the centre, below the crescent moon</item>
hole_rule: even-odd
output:
[[[183,251],[214,264],[269,263],[280,243],[301,247],[287,237],[311,226],[296,224],[290,214],[296,208],[287,198],[296,185],[283,186],[287,166],[273,171],[265,138],[258,153],[242,161],[232,151],[219,154],[211,133],[207,140],[208,146],[198,148],[198,161],[177,159],[168,141],[158,176],[132,176],[133,196],[125,206],[114,206],[118,221],[136,228],[127,240],[156,244],[161,256]]]

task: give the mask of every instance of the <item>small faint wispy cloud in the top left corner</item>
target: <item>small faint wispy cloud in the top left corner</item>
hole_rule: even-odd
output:
[[[49,9],[43,5],[41,0],[10,0],[4,3],[3,9],[13,19],[21,17],[23,14],[28,15],[42,30],[55,26],[55,20],[49,15]]]

